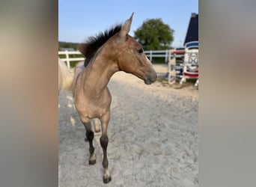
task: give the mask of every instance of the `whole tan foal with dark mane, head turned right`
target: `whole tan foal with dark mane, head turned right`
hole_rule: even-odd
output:
[[[132,13],[133,16],[133,13]],[[107,128],[110,118],[112,96],[107,88],[109,79],[118,71],[132,73],[150,85],[156,81],[156,72],[144,54],[141,44],[128,35],[132,16],[124,25],[118,25],[97,37],[89,37],[80,46],[85,56],[85,65],[78,64],[73,79],[73,96],[79,118],[85,126],[86,138],[90,144],[89,164],[96,163],[94,155],[94,132],[90,119],[99,118],[102,126],[100,145],[103,148],[103,182],[112,180],[109,174]]]

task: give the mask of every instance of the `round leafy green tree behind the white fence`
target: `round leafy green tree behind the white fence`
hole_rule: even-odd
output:
[[[162,19],[147,19],[135,31],[134,38],[145,50],[170,49],[174,40],[174,30],[162,22]]]

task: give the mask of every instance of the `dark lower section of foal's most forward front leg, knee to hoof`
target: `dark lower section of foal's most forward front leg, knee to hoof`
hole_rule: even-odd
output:
[[[103,168],[104,168],[103,183],[109,183],[112,180],[112,178],[109,174],[109,161],[108,161],[108,157],[107,157],[108,144],[109,144],[108,135],[106,135],[106,133],[104,133],[100,137],[100,145],[103,148]]]

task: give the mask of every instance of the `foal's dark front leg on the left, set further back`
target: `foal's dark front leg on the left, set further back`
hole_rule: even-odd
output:
[[[96,163],[96,156],[94,154],[94,145],[93,145],[93,140],[94,140],[94,132],[91,131],[91,123],[83,123],[86,129],[86,138],[89,141],[90,144],[90,159],[89,159],[89,165],[94,165]]]

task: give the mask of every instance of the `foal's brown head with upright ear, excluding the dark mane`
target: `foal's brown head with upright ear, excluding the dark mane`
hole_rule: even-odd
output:
[[[115,54],[115,61],[117,61],[119,70],[132,73],[144,80],[145,84],[150,85],[156,82],[156,71],[153,70],[151,62],[144,54],[141,44],[128,34],[132,24],[132,16],[121,27],[121,31],[110,38],[109,45],[111,47],[109,49],[112,49],[113,54]]]

